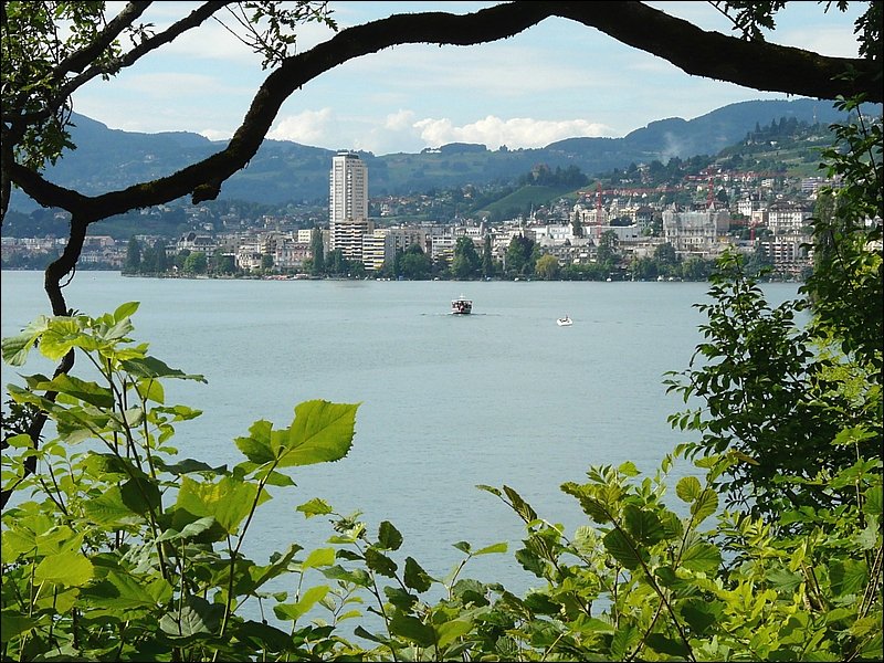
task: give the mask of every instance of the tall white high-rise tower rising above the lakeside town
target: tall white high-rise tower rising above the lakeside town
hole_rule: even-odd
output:
[[[359,155],[340,151],[332,158],[329,187],[329,250],[362,261],[362,238],[371,234],[368,220],[368,166]]]

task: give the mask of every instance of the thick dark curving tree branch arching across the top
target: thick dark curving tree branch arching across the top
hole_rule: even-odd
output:
[[[819,98],[833,99],[863,92],[871,102],[882,101],[881,72],[864,60],[827,57],[800,49],[706,32],[636,1],[518,1],[464,15],[394,14],[343,30],[314,49],[286,59],[266,77],[242,125],[223,150],[168,177],[94,198],[50,185],[39,173],[21,167],[12,169],[12,181],[44,207],[80,213],[88,219],[87,223],[187,194],[192,194],[194,203],[213,200],[221,183],[257,152],[282,104],[320,74],[356,57],[400,44],[493,42],[514,36],[551,17],[596,28],[618,41],[663,57],[692,75]],[[842,76],[850,71],[859,76],[844,80]]]

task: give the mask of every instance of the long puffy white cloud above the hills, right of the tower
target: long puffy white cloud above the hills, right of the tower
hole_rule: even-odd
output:
[[[432,147],[448,143],[478,143],[497,149],[546,147],[550,143],[573,137],[610,136],[611,128],[586,119],[533,119],[514,117],[502,119],[493,115],[484,119],[454,126],[450,119],[421,119],[414,123],[423,141]]]

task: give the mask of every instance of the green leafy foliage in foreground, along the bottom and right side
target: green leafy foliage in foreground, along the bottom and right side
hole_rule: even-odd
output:
[[[750,10],[748,28],[772,15],[730,6]],[[248,559],[256,509],[293,485],[285,470],[346,456],[359,404],[308,401],[284,429],[254,422],[232,469],[179,460],[176,427],[199,412],[167,404],[164,383],[203,378],[131,340],[137,303],[39,317],[3,339],[3,360],[73,352],[98,377],[8,387],[2,659],[880,661],[882,313],[867,306],[881,294],[880,124],[841,137],[828,159],[845,186],[818,210],[806,298],[771,308],[728,254],[699,305],[706,340],[670,380],[699,401],[672,419],[698,442],[653,477],[623,463],[562,484],[587,517],[572,536],[512,486],[478,486],[525,524],[514,557],[540,586],[524,597],[463,575],[504,544],[457,541],[462,561],[436,579],[403,558],[391,522],[371,536],[359,513],[316,498],[298,511],[329,517],[326,547]],[[532,252],[514,242],[508,259]],[[40,417],[54,424],[46,440],[28,432]],[[675,480],[673,501],[680,455],[698,472]],[[272,591],[280,579],[294,591]],[[250,601],[285,630],[250,619]]]

